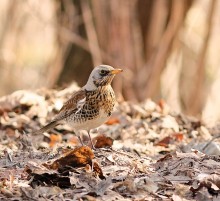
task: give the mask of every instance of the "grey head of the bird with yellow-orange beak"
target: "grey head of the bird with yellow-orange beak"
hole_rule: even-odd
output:
[[[122,72],[122,69],[115,69],[112,66],[100,65],[93,69],[89,79],[84,86],[88,91],[95,90],[100,86],[107,86],[111,84],[116,74]]]

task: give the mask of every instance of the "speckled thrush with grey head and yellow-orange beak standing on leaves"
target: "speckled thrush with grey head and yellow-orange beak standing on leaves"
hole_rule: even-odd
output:
[[[95,149],[90,130],[101,126],[111,116],[115,103],[115,93],[111,87],[115,75],[123,70],[110,65],[96,66],[89,75],[87,83],[72,94],[56,116],[34,134],[42,134],[59,124],[69,125],[82,145],[80,131],[88,133],[92,148]]]

